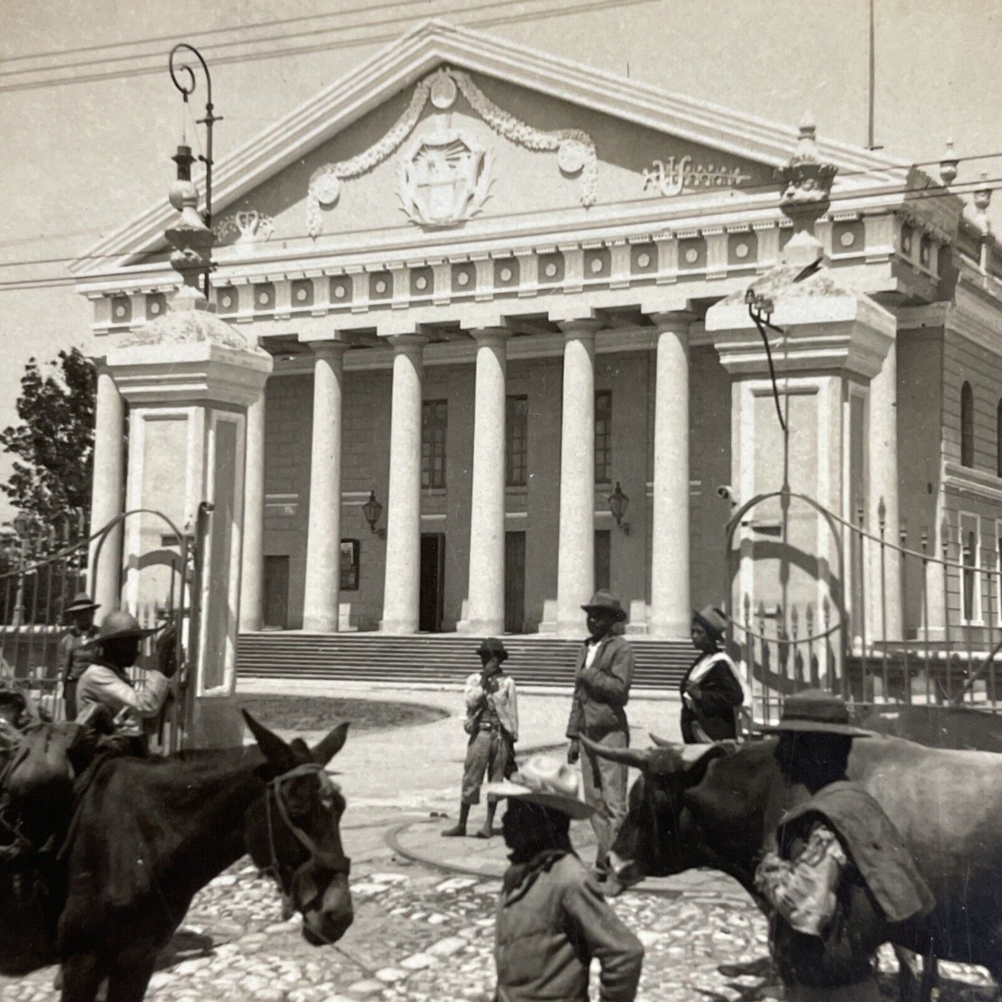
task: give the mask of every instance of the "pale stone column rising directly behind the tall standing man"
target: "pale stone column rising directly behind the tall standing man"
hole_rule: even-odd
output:
[[[560,432],[560,530],[557,543],[558,636],[580,636],[582,602],[595,585],[595,331],[567,321]]]

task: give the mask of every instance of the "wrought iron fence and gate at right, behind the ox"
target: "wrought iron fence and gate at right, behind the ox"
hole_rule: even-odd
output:
[[[755,546],[733,544],[756,505],[784,495],[788,502],[806,502],[827,521],[840,559],[818,601],[804,600],[802,589],[797,600],[769,607],[740,588],[742,580],[755,577],[741,578],[738,569],[741,561],[757,559]],[[1002,532],[986,545],[965,517],[954,515],[951,521],[948,515],[935,534],[928,527],[912,533],[902,523],[892,540],[883,499],[875,531],[862,510],[851,522],[789,491],[742,506],[727,528],[732,605],[725,611],[730,649],[741,662],[755,719],[774,721],[785,696],[808,686],[837,691],[861,708],[895,703],[1002,708],[996,677],[1002,652]],[[797,554],[785,538],[773,545],[782,577]]]

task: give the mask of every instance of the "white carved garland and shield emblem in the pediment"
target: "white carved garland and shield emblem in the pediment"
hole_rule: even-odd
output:
[[[452,107],[457,92],[499,135],[536,152],[556,152],[557,166],[568,175],[580,174],[582,205],[593,205],[597,197],[598,159],[595,142],[580,129],[545,132],[502,111],[469,75],[442,67],[421,80],[407,109],[393,128],[364,153],[338,163],[327,163],[314,171],[307,193],[307,230],[320,235],[321,206],[334,206],[341,183],[360,177],[393,155],[414,130],[429,102],[440,111]],[[462,222],[483,207],[492,182],[493,157],[459,129],[440,128],[431,136],[412,143],[398,169],[400,198],[404,211],[425,226],[449,226]]]

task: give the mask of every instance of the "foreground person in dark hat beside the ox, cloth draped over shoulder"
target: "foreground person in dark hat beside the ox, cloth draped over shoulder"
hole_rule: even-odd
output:
[[[933,907],[932,894],[891,820],[846,778],[853,726],[837,695],[789,696],[776,757],[787,780],[775,852],[756,888],[774,909],[771,946],[791,1002],[878,1002],[877,950],[890,923]]]

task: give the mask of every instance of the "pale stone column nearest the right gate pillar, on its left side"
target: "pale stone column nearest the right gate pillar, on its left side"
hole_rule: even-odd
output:
[[[650,547],[652,636],[689,635],[689,391],[690,314],[655,314],[654,492]]]

